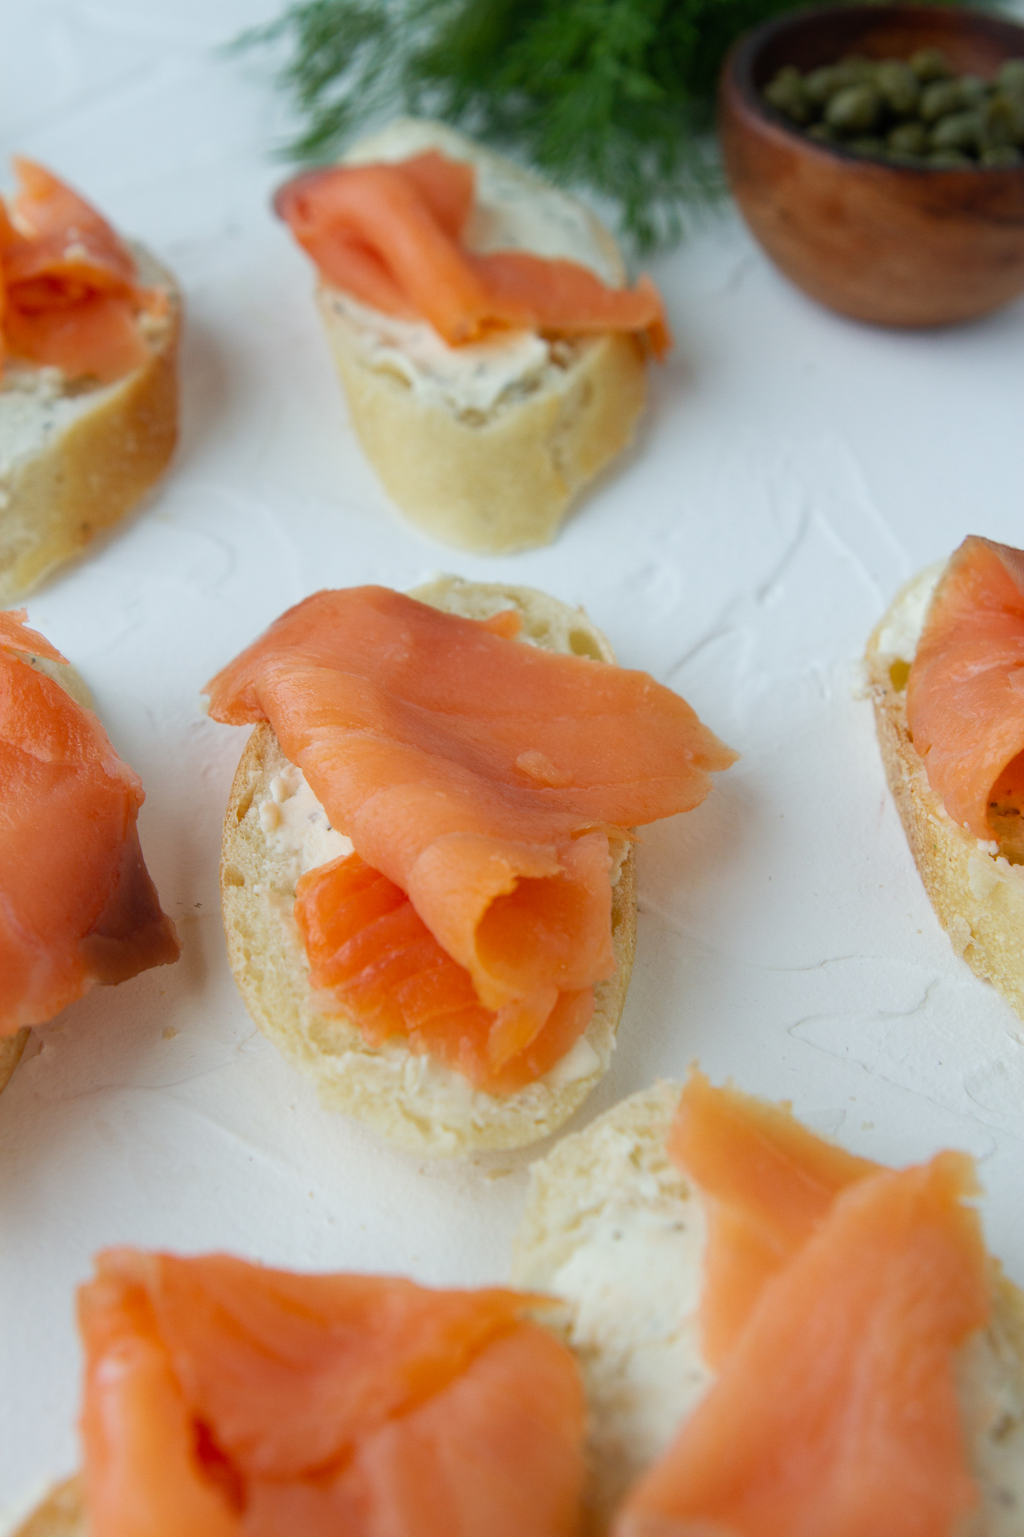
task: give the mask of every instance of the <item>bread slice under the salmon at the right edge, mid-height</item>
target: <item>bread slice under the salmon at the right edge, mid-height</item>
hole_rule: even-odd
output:
[[[881,761],[924,890],[958,956],[1024,1019],[1024,865],[947,815],[907,730],[906,686],[944,563],[895,596],[867,641],[867,686]]]

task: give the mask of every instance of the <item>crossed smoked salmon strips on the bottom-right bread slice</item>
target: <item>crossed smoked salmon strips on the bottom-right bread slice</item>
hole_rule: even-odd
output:
[[[972,1160],[878,1168],[703,1079],[671,1148],[771,1263],[754,1253],[720,1374],[616,1537],[953,1537],[979,1499],[955,1356],[990,1311]]]

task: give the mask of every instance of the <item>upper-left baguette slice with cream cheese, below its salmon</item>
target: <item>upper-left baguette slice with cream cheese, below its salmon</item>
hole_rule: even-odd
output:
[[[138,281],[169,298],[164,315],[140,317],[146,363],[114,384],[17,360],[0,375],[0,606],[130,512],[173,452],[181,297],[154,257],[132,254]]]

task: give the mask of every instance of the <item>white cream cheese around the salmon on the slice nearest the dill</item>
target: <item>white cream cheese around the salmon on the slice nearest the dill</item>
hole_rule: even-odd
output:
[[[576,261],[611,287],[622,284],[614,243],[582,203],[441,123],[402,118],[356,144],[345,163],[407,160],[428,149],[476,171],[476,206],[464,234],[470,251],[528,251]],[[324,295],[356,332],[368,367],[398,375],[425,401],[468,421],[534,393],[594,346],[593,338],[548,341],[519,330],[451,347],[427,321],[396,320],[330,286]]]

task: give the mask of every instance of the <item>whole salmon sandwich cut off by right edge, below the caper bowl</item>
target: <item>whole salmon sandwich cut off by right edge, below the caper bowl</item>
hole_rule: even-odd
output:
[[[1024,1017],[1024,550],[970,535],[867,644],[889,788],[956,954]]]

